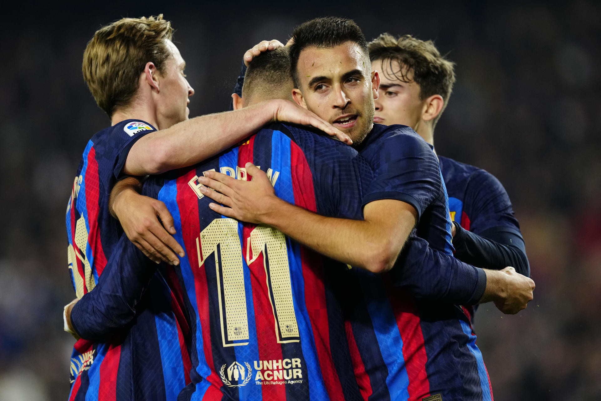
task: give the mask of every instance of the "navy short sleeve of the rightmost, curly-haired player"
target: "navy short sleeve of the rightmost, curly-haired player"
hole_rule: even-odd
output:
[[[517,219],[513,215],[507,191],[495,176],[478,170],[469,179],[464,204],[470,217],[469,230],[482,234],[489,228],[504,227],[509,232],[520,233]]]

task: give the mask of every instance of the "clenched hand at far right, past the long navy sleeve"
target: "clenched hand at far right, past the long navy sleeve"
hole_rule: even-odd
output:
[[[507,267],[501,271],[485,269],[485,272],[487,283],[484,297],[490,297],[489,300],[495,302],[496,307],[502,313],[516,314],[525,309],[528,302],[534,298],[532,295],[535,287],[534,281],[517,273],[516,269],[512,267]],[[489,278],[490,285],[496,287],[492,294],[489,293]]]

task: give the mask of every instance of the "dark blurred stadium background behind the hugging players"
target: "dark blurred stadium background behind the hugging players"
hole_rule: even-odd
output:
[[[601,2],[124,2],[28,5],[0,38],[0,400],[66,400],[73,299],[64,210],[88,139],[109,124],[81,76],[87,41],[124,16],[164,13],[196,94],[191,117],[227,109],[243,53],[294,25],[351,17],[433,38],[457,63],[436,127],[441,155],[507,188],[526,240],[532,301],[492,304],[475,329],[497,401],[601,399]]]

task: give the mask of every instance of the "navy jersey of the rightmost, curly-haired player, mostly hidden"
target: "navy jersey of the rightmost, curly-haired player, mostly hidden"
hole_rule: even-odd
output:
[[[466,230],[484,237],[499,232],[509,233],[511,245],[517,246],[525,254],[520,225],[514,216],[509,195],[501,182],[481,168],[444,156],[438,156],[438,159],[447,186],[451,219]],[[525,269],[516,266],[516,270],[529,276],[527,262]],[[464,307],[473,322],[478,305]]]

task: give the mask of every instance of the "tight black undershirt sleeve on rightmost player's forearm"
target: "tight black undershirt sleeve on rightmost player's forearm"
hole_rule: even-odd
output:
[[[507,266],[530,277],[530,266],[522,236],[505,227],[493,227],[482,236],[465,230],[457,222],[453,237],[455,257],[478,268],[501,270]]]

